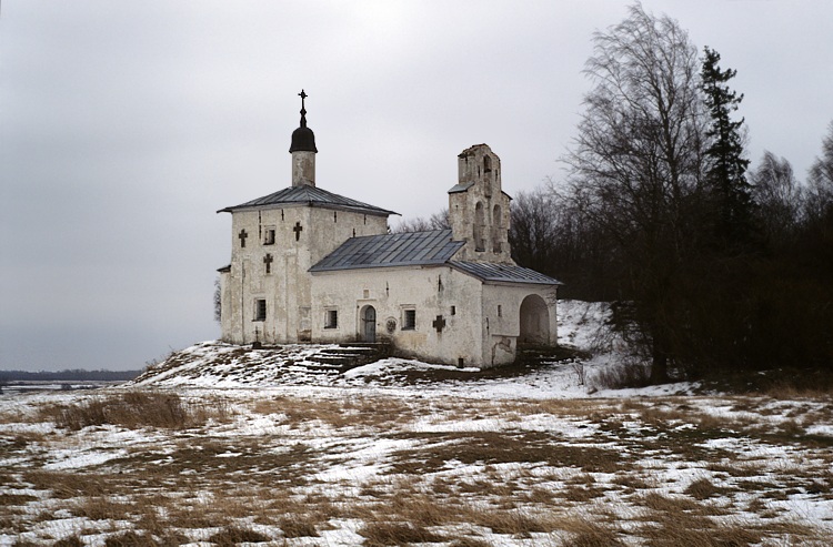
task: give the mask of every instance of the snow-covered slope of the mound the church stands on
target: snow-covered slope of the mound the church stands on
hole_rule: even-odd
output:
[[[600,344],[609,315],[603,303],[559,302],[559,340],[564,346],[592,355],[585,361],[550,363],[519,374],[494,369],[455,368],[413,359],[384,358],[340,373],[317,356],[334,345],[288,344],[277,348],[252,350],[211,341],[171,354],[133,381],[137,386],[154,387],[378,387],[464,391],[483,397],[583,397],[600,396],[593,377],[602,367],[618,363],[621,348]],[[676,393],[684,386],[653,388],[652,393]],[[633,392],[622,393],[632,394]],[[644,391],[643,391],[644,393]],[[610,393],[606,393],[610,395]]]

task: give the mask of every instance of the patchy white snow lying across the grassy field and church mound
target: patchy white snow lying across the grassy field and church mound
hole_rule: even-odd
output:
[[[720,508],[712,521],[766,529],[763,545],[793,544],[791,523],[811,527],[822,538],[817,545],[833,538],[833,447],[814,444],[816,437],[833,437],[829,401],[694,396],[689,384],[599,389],[593,375],[626,350],[615,340],[598,342],[606,318],[601,304],[562,302],[560,310],[564,343],[594,352],[583,363],[583,378],[572,363],[482,377],[474,368],[401,358],[339,374],[311,366],[321,346],[241,351],[204,342],[160,364],[155,374],[94,395],[0,396],[0,499],[17,499],[0,506],[0,546],[52,545],[73,536],[99,546],[120,531],[142,529],[144,520],[136,514],[79,515],[81,494],[58,497],[36,484],[30,470],[59,477],[101,474],[112,484],[123,475],[134,485],[113,493],[110,503],[161,496],[159,503],[169,505],[160,505],[154,518],[203,507],[217,511],[211,518],[273,538],[272,545],[361,545],[365,525],[395,518],[394,502],[413,495],[473,514],[506,505],[529,517],[603,524],[599,516],[613,515],[605,518],[616,519],[613,527],[624,530],[619,535],[624,545],[644,544],[639,530],[653,515],[641,502],[648,494]],[[416,375],[401,382],[404,372],[453,372],[454,379],[428,382]],[[103,425],[70,432],[40,412],[91,396],[118,397],[126,388],[171,391],[187,406],[222,406],[227,415],[187,429]],[[770,435],[784,427],[797,432],[793,440]],[[546,450],[514,454],[536,443],[545,443]],[[492,452],[455,452],[476,454],[480,445]],[[590,450],[610,460],[582,463]],[[137,486],[143,470],[162,473],[168,486],[148,492]],[[697,482],[715,488],[706,500],[686,494]],[[289,514],[299,504],[310,514],[339,509],[315,525],[319,537],[284,538],[277,516],[267,518],[271,502],[234,498],[247,488],[275,493],[274,511]],[[596,488],[600,495],[576,503],[560,497],[576,488]],[[553,502],[524,497],[533,492],[549,493]],[[318,498],[322,505],[315,505]],[[232,516],[233,506],[248,507],[248,514]],[[204,546],[224,521],[178,530],[185,545]],[[431,530],[448,539],[432,544],[438,547],[464,535],[495,546],[562,545],[572,537],[560,528],[504,534],[474,520]]]

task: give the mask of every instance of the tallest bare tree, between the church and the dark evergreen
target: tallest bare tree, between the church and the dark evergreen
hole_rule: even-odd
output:
[[[697,52],[676,21],[639,3],[593,42],[585,68],[593,88],[565,158],[572,200],[621,269],[652,381],[663,382],[681,315],[680,272],[699,235],[706,125]]]

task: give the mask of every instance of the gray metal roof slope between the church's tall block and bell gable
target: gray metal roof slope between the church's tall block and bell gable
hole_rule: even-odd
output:
[[[310,272],[444,264],[463,246],[451,230],[351,237]]]

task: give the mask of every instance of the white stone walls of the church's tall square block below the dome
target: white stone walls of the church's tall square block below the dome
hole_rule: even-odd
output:
[[[240,243],[243,230],[245,246]],[[323,207],[233,212],[231,271],[221,276],[222,340],[234,344],[312,340],[309,269],[353,235],[387,231],[384,216]],[[265,301],[263,321],[255,317],[259,300]]]

